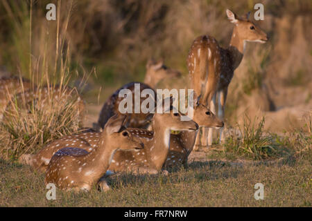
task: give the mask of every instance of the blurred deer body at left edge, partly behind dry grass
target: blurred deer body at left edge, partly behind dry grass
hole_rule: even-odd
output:
[[[0,119],[3,112],[10,102],[12,95],[28,91],[31,88],[31,82],[19,77],[1,77],[0,78]]]

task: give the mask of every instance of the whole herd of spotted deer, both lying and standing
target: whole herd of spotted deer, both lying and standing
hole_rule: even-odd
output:
[[[108,97],[93,129],[54,140],[34,155],[21,155],[19,162],[44,171],[46,184],[53,183],[60,189],[89,191],[96,185],[107,191],[110,189],[106,182],[109,171],[167,175],[167,170],[173,166],[187,164],[191,151],[198,151],[200,145],[211,146],[213,128],[220,130],[219,140],[223,142],[227,88],[243,59],[245,42],[268,41],[266,33],[249,20],[249,13],[243,17],[230,10],[226,13],[234,24],[229,46],[221,48],[214,37],[202,35],[193,41],[189,50],[187,67],[191,79],[189,87],[194,90],[193,119],[181,120],[184,114],[173,106],[172,97],[163,101],[163,106],[165,101],[170,103],[165,113],[119,112],[123,99],[119,97],[121,89],[134,92],[137,83],[140,90],[155,91],[157,82],[162,79],[180,77],[180,72],[167,68],[162,61],[150,60],[146,65],[144,83],[125,84]],[[24,93],[24,97],[31,101],[36,97],[30,90],[34,87],[26,79],[2,77],[0,119],[5,117],[12,102],[8,99],[10,95],[18,97]],[[47,88],[42,90],[48,91]],[[72,91],[69,88],[67,93]],[[81,113],[83,108],[81,104]]]

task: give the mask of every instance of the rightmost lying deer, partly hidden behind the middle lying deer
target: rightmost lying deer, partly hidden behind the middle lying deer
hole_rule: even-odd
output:
[[[196,100],[194,100],[196,101]],[[207,106],[194,102],[193,121],[202,128],[222,128],[224,123]],[[170,150],[164,168],[187,164],[198,131],[181,131],[170,135]]]

